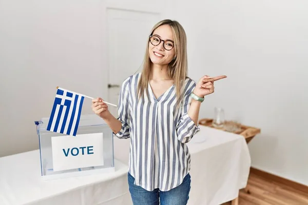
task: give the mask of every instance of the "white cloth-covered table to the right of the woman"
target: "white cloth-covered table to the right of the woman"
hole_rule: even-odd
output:
[[[188,143],[191,189],[188,204],[218,205],[247,185],[251,157],[243,136],[205,126]]]

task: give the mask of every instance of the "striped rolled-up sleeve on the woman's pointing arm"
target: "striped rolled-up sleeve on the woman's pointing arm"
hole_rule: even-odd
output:
[[[182,100],[182,108],[181,108],[181,117],[178,120],[178,124],[176,127],[178,140],[182,143],[187,143],[190,139],[196,134],[197,131],[200,130],[199,123],[197,126],[195,122],[189,117],[187,114],[190,103],[191,97],[190,93],[194,90],[196,83],[191,83],[192,85],[188,88],[185,92],[185,95]]]

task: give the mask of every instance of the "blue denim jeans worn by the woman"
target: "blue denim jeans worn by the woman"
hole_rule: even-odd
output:
[[[190,175],[184,177],[180,186],[166,192],[159,189],[147,191],[133,184],[134,178],[128,173],[128,186],[134,205],[184,205],[187,204],[190,191]]]

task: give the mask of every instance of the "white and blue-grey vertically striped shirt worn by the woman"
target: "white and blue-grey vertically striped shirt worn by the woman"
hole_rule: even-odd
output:
[[[199,125],[195,125],[187,111],[196,83],[186,78],[185,94],[177,110],[175,85],[158,98],[148,85],[149,99],[145,93],[144,100],[138,100],[140,77],[138,73],[123,81],[118,107],[122,128],[113,134],[130,137],[128,172],[135,178],[134,184],[148,191],[168,191],[179,186],[190,170],[186,143]]]

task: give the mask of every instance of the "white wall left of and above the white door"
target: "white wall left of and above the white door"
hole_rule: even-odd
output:
[[[0,1],[0,157],[38,149],[34,121],[50,116],[56,86],[108,100],[106,7],[162,16],[170,7],[145,3]],[[82,114],[90,106],[86,98]]]

